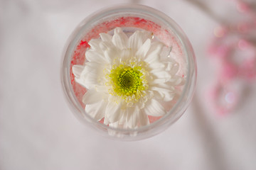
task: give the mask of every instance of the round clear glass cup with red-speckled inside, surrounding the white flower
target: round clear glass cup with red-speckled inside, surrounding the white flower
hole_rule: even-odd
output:
[[[135,129],[112,128],[85,113],[82,96],[86,89],[75,81],[72,67],[85,63],[88,42],[99,38],[100,33],[112,33],[120,27],[129,35],[135,30],[147,30],[171,50],[171,55],[179,64],[177,74],[185,79],[178,98],[166,104],[166,115],[161,118],[149,116],[150,124]],[[142,140],[162,132],[183,115],[193,97],[196,86],[196,57],[183,30],[164,13],[142,5],[122,5],[105,8],[83,20],[73,31],[63,52],[62,83],[68,104],[73,113],[85,125],[94,128],[101,135],[122,140]],[[96,132],[95,131],[95,132]]]

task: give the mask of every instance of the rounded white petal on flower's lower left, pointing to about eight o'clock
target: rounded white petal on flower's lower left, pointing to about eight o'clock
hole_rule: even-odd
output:
[[[98,101],[102,101],[104,93],[97,92],[95,89],[88,89],[84,96],[82,96],[82,102],[85,104],[93,104]]]

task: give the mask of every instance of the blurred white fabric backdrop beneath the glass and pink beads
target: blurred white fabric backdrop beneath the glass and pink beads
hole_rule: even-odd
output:
[[[70,33],[90,13],[117,1],[0,1],[0,169],[256,169],[255,86],[223,118],[205,100],[215,76],[206,52],[213,28],[239,13],[231,1],[193,1],[212,13],[188,0],[136,1],[173,18],[198,60],[188,111],[168,130],[137,142],[108,140],[78,122],[60,84]]]

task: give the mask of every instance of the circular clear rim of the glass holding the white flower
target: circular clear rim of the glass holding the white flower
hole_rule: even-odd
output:
[[[174,33],[176,34],[177,38],[180,40],[181,45],[183,46],[183,52],[186,55],[186,82],[183,85],[183,89],[181,92],[181,96],[179,96],[178,101],[174,104],[174,107],[172,107],[166,115],[163,115],[159,120],[156,120],[154,123],[150,123],[149,125],[145,125],[139,128],[134,129],[125,129],[125,128],[112,128],[108,125],[105,125],[103,123],[100,123],[99,121],[92,118],[89,114],[85,113],[85,108],[82,108],[80,103],[78,102],[78,99],[76,98],[73,87],[71,85],[70,81],[70,62],[69,58],[70,55],[68,55],[68,52],[70,50],[74,50],[70,45],[72,42],[74,43],[75,35],[78,35],[79,31],[81,30],[82,26],[85,25],[85,23],[93,22],[95,18],[100,18],[102,16],[107,16],[111,13],[124,13],[124,12],[133,12],[133,13],[144,13],[149,14],[151,16],[154,16],[156,18],[161,19],[161,21],[164,21],[166,26],[169,26]],[[71,48],[71,49],[70,49]],[[103,8],[100,11],[97,11],[95,13],[92,13],[90,16],[87,16],[80,24],[78,24],[77,28],[73,30],[73,33],[68,38],[68,41],[66,42],[66,45],[63,50],[63,60],[62,60],[62,67],[61,67],[61,81],[63,84],[63,91],[66,96],[66,100],[69,103],[70,108],[72,109],[74,115],[79,116],[78,119],[82,119],[82,123],[87,125],[90,124],[90,127],[95,128],[94,126],[97,125],[98,128],[105,129],[105,130],[112,130],[115,132],[121,132],[121,134],[130,134],[134,132],[138,132],[138,134],[141,134],[141,132],[146,131],[153,131],[155,130],[155,133],[149,136],[156,135],[158,132],[156,132],[156,128],[164,127],[166,128],[175,123],[178,118],[183,115],[184,111],[186,111],[186,108],[188,107],[188,104],[191,102],[191,99],[193,97],[195,86],[196,86],[196,57],[193,52],[193,48],[191,46],[191,43],[189,42],[188,38],[186,37],[185,33],[183,33],[183,30],[178,26],[178,24],[171,19],[166,14],[162,13],[161,11],[158,11],[154,8],[151,8],[149,6],[144,5],[138,5],[138,4],[122,4],[117,6],[112,6],[108,8]],[[65,67],[67,66],[67,67]],[[194,77],[193,80],[191,80]],[[192,91],[190,89],[190,86],[193,87]],[[68,93],[69,91],[69,93]],[[71,92],[71,93],[70,93]],[[188,98],[186,98],[186,95],[188,94]],[[186,99],[186,103],[183,107],[178,108],[178,106],[181,106],[181,102]],[[174,118],[172,118],[174,116]],[[170,119],[170,120],[169,120]],[[86,121],[86,123],[85,123]],[[97,129],[98,129],[97,128]],[[164,129],[166,129],[164,128]],[[106,132],[105,132],[106,133]],[[107,133],[105,134],[109,136]],[[116,138],[116,137],[114,137]]]

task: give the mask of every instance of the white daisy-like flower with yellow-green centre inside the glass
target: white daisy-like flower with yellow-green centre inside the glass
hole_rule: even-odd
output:
[[[137,128],[151,116],[166,114],[161,102],[171,101],[182,78],[178,64],[161,56],[164,44],[152,33],[137,30],[129,38],[121,28],[100,33],[89,42],[85,66],[73,66],[75,81],[85,86],[85,112],[106,125]]]

